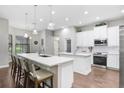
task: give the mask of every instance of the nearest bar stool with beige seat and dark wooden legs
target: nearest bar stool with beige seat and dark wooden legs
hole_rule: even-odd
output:
[[[42,88],[45,88],[45,86],[53,88],[53,73],[44,69],[35,70],[34,64],[32,64],[32,72],[30,72],[29,78],[34,83],[35,88],[40,87],[41,84]],[[50,85],[46,82],[48,79],[50,79]]]

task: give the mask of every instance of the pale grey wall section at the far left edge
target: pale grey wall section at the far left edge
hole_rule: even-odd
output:
[[[8,20],[0,18],[0,66],[8,65]]]

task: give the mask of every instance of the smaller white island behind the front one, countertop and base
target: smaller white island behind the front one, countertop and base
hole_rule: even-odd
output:
[[[92,53],[82,52],[82,53],[73,54],[73,53],[62,52],[60,56],[74,59],[74,63],[73,63],[74,72],[83,75],[88,75],[91,72],[91,63],[93,61]]]

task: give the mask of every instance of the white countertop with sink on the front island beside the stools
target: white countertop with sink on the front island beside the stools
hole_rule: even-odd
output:
[[[50,67],[73,61],[73,58],[60,56],[40,57],[38,53],[22,53],[18,56]]]

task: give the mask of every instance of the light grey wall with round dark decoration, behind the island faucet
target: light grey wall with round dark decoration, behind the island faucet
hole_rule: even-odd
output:
[[[38,52],[41,50],[41,39],[44,40],[44,48],[46,54],[54,54],[54,36],[52,31],[39,31],[37,35],[32,35],[31,39],[31,52]],[[35,45],[34,41],[38,41]]]

